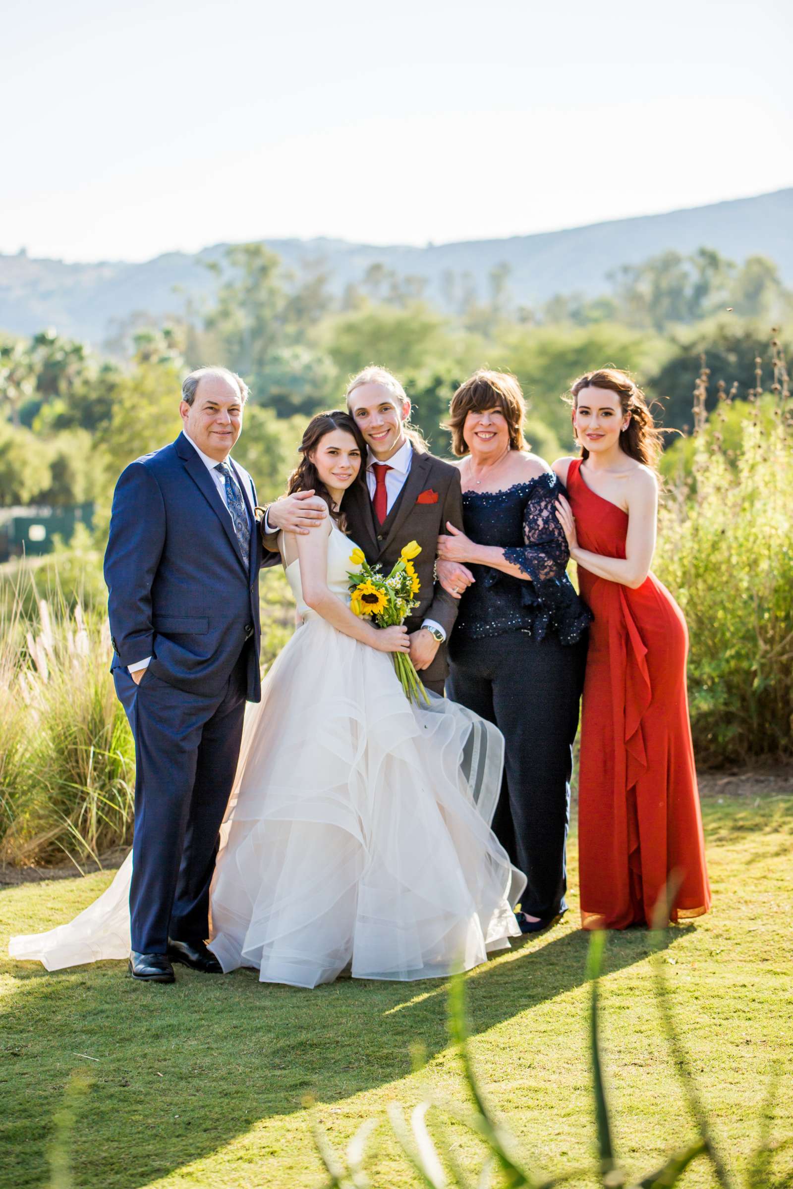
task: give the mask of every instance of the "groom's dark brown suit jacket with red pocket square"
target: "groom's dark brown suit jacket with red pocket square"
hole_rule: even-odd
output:
[[[379,562],[384,574],[398,561],[408,541],[421,546],[421,553],[414,560],[421,583],[418,606],[405,619],[405,625],[408,631],[416,631],[424,619],[435,619],[446,631],[448,642],[459,604],[435,581],[435,555],[438,536],[447,531],[446,522],[462,528],[462,491],[458,468],[434,454],[414,448],[410,473],[383,524],[375,522],[372,501],[364,483],[354,483],[350,487],[341,507],[351,541],[364,551],[370,565]],[[265,565],[278,559],[276,540],[277,534],[264,537],[265,549],[270,551],[270,556],[265,554]],[[443,643],[421,677],[442,682],[447,674]]]

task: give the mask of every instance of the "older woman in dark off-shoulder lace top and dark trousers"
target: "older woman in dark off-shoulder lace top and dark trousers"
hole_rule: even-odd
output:
[[[528,452],[514,376],[478,371],[454,394],[448,428],[461,457],[465,533],[438,541],[438,574],[460,609],[449,641],[449,698],[502,730],[504,785],[493,830],[528,876],[518,916],[539,932],[565,912],[572,747],[591,615],[565,573],[561,489]]]

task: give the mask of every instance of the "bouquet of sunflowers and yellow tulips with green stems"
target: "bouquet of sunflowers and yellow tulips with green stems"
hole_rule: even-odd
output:
[[[392,628],[402,623],[408,612],[417,605],[415,596],[421,590],[421,583],[413,559],[417,558],[420,553],[421,546],[416,545],[415,541],[409,541],[391,573],[384,578],[380,566],[370,566],[363,549],[353,549],[350,560],[353,566],[360,568],[347,574],[351,596],[350,610],[355,615],[370,616],[378,628]],[[420,704],[423,698],[429,705],[427,691],[408,654],[392,653],[392,658],[408,702],[415,700],[416,704]]]

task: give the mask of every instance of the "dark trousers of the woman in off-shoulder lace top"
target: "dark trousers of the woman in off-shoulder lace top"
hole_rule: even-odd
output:
[[[554,917],[567,907],[569,778],[586,638],[561,644],[555,634],[536,641],[524,631],[483,640],[452,633],[449,661],[447,697],[495,723],[506,743],[493,831],[528,877],[522,908]]]

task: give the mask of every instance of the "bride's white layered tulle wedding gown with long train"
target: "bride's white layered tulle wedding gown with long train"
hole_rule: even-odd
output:
[[[348,602],[352,542],[328,537],[328,587]],[[212,885],[209,948],[225,971],[315,987],[442,977],[520,936],[525,886],[490,829],[504,741],[430,694],[410,704],[389,654],[303,602],[303,623],[248,706]],[[130,951],[130,855],[89,908],[49,933],[12,938],[49,970]]]

